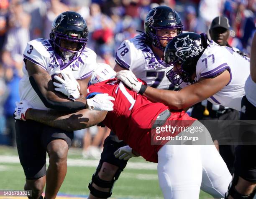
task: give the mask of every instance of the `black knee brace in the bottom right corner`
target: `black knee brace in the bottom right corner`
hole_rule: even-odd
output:
[[[256,189],[254,189],[249,195],[243,195],[236,191],[235,186],[238,182],[238,177],[239,176],[237,174],[233,174],[233,179],[228,186],[228,191],[225,193],[225,199],[228,199],[228,196],[232,196],[233,199],[253,199],[254,195],[256,194]]]

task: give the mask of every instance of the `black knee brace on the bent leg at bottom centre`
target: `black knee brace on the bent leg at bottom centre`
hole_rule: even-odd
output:
[[[98,165],[95,173],[92,175],[92,181],[88,185],[88,188],[90,190],[90,193],[93,196],[95,196],[95,197],[98,197],[98,198],[109,198],[112,195],[112,189],[113,189],[114,183],[118,179],[118,177],[120,176],[120,174],[123,171],[123,169],[118,169],[115,172],[115,175],[113,176],[113,179],[111,181],[106,181],[106,180],[100,179],[100,177],[98,175],[102,164],[103,164],[103,162],[100,161],[100,164]],[[101,188],[109,188],[110,191],[109,192],[99,191],[99,190],[95,189],[92,186],[92,183],[96,184],[97,186],[99,186]]]

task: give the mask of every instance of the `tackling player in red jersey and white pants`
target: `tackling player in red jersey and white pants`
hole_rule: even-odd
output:
[[[184,111],[166,114],[169,112],[167,106],[152,103],[126,88],[115,78],[90,86],[87,97],[100,93],[108,93],[115,98],[113,111],[84,109],[65,115],[29,108],[29,105],[23,102],[18,105],[15,115],[17,117],[23,113],[26,119],[69,131],[88,128],[102,122],[146,160],[158,162],[159,185],[165,199],[170,196],[172,199],[198,199],[200,186],[215,198],[224,196],[231,175],[214,145],[168,145],[165,144],[167,141],[160,142],[160,145],[151,144],[154,132],[154,129],[151,129],[152,121],[167,115],[164,119],[166,121],[190,120],[190,124],[185,124],[190,126],[197,122],[194,118]],[[22,111],[18,111],[21,109]],[[178,131],[173,136],[176,134]]]

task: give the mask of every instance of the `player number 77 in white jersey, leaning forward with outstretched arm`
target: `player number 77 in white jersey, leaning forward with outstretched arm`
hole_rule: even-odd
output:
[[[141,86],[131,71],[120,71],[117,77],[137,93],[143,93],[151,101],[164,103],[172,109],[187,108],[207,99],[214,104],[244,111],[241,110],[241,101],[245,95],[246,79],[250,74],[250,60],[246,56],[213,41],[208,43],[205,34],[183,33],[168,43],[164,58],[166,64],[174,64],[167,77],[174,84],[184,87],[179,92]],[[256,169],[255,159],[248,156],[250,153],[254,151],[246,150],[246,155],[240,156],[242,160],[236,159],[233,181],[225,198],[253,198]],[[248,158],[253,159],[249,166],[246,164]],[[249,189],[243,187],[243,183],[247,184]]]

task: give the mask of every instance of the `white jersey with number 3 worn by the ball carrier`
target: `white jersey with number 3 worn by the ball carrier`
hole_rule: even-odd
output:
[[[64,63],[60,56],[54,52],[50,40],[39,38],[28,42],[23,56],[24,60],[35,63],[50,76],[61,71],[71,71],[74,78],[82,80],[90,77],[96,67],[96,54],[90,48],[84,48],[82,53],[78,53],[78,55],[79,57],[74,61]],[[23,66],[23,73],[24,76],[19,85],[20,100],[28,101],[33,108],[49,109],[44,106],[44,103],[32,88],[25,65]]]

